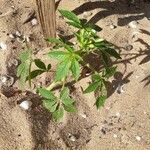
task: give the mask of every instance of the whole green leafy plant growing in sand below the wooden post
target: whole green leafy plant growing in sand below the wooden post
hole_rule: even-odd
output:
[[[60,14],[67,19],[67,23],[76,28],[74,33],[76,44],[65,41],[62,38],[48,38],[48,42],[53,43],[53,50],[47,55],[49,58],[57,59],[58,66],[55,72],[53,82],[48,87],[37,89],[38,94],[43,97],[43,105],[52,113],[55,121],[59,121],[64,112],[76,112],[75,100],[70,96],[68,88],[68,78],[73,81],[81,79],[81,71],[84,67],[91,73],[91,83],[84,90],[84,93],[96,92],[95,105],[97,109],[104,106],[107,99],[106,82],[115,72],[116,67],[109,65],[111,57],[120,59],[120,55],[114,50],[114,46],[97,35],[101,28],[87,23],[84,19],[79,19],[73,12],[59,10]],[[86,61],[87,56],[100,56],[103,61],[102,70],[97,71]],[[31,50],[23,52],[20,55],[21,64],[17,70],[17,76],[20,78],[21,85],[26,81],[31,86],[31,80],[44,72],[51,71],[51,64],[46,66],[40,59],[34,59]],[[31,71],[32,64],[38,69]],[[59,94],[55,93],[54,88],[60,85]],[[94,103],[94,102],[93,102]]]

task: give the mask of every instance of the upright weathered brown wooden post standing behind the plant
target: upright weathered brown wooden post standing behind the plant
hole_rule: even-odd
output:
[[[56,37],[55,0],[36,0],[36,5],[44,38]]]

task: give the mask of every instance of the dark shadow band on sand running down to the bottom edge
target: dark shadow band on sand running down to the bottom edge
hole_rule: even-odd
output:
[[[49,138],[49,134],[55,133],[56,127],[56,124],[52,121],[51,113],[42,107],[42,99],[38,95],[29,92],[27,98],[32,102],[29,121],[31,122],[31,134],[34,143],[33,150],[59,150],[57,140]],[[51,131],[49,131],[50,128]]]

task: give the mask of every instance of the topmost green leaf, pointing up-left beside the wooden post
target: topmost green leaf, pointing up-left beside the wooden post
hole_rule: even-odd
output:
[[[67,18],[68,20],[71,20],[76,23],[80,23],[79,18],[73,12],[70,12],[68,10],[59,10],[59,12],[63,17]]]

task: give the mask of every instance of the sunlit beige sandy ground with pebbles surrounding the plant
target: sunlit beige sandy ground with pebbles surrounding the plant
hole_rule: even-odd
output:
[[[92,0],[91,0],[92,1]],[[0,150],[149,150],[150,149],[150,3],[142,0],[128,5],[125,0],[96,1],[62,0],[58,7],[74,10],[80,17],[103,28],[100,36],[120,48],[122,61],[113,80],[105,107],[97,111],[94,94],[82,94],[89,78],[75,85],[72,96],[77,100],[78,113],[66,115],[55,124],[51,115],[29,94],[33,102],[28,111],[17,104],[23,94],[3,91],[0,98]],[[24,23],[33,13],[33,0],[0,0],[0,72],[16,79],[12,60],[18,58],[23,45],[10,34],[19,31],[30,36],[37,54],[44,49],[39,24]],[[35,15],[36,16],[36,15]],[[136,28],[129,27],[137,21]],[[111,25],[115,28],[112,29]],[[58,34],[69,35],[63,19],[57,20]],[[9,64],[10,63],[10,64]],[[115,87],[123,84],[121,94]],[[146,86],[145,86],[146,85]],[[14,87],[17,86],[17,81]],[[9,98],[7,98],[7,97]]]

